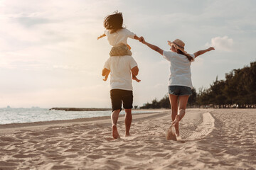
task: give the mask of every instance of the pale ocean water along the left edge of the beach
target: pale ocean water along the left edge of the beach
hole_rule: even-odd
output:
[[[132,110],[132,113],[149,112],[152,111]],[[124,111],[121,111],[120,115],[123,114]],[[77,118],[93,118],[110,115],[111,111],[49,111],[49,108],[0,108],[0,125],[50,120],[71,120]]]

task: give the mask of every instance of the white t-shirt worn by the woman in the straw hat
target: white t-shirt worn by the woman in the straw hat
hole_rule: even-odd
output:
[[[191,62],[185,55],[164,51],[163,56],[171,63],[169,86],[188,86],[193,88],[191,81]],[[191,55],[195,59],[195,55]]]

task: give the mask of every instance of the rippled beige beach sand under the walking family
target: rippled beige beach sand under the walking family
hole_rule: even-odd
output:
[[[110,117],[0,125],[0,169],[256,169],[255,109],[188,109],[183,141],[165,139],[169,111],[133,115],[112,139]]]

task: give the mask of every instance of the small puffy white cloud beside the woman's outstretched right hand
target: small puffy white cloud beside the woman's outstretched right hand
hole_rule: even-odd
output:
[[[206,46],[213,46],[215,50],[231,52],[233,50],[233,43],[234,40],[232,38],[224,36],[212,38],[210,43],[206,43]]]

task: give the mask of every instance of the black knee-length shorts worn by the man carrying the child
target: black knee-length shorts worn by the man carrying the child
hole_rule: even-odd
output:
[[[110,98],[112,103],[112,111],[122,110],[122,103],[124,109],[132,108],[133,94],[132,91],[112,89],[110,91]]]

